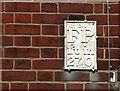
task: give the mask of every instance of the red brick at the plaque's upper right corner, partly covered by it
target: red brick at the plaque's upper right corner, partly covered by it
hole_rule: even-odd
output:
[[[98,25],[107,25],[107,16],[106,15],[88,15],[87,20],[97,21]]]

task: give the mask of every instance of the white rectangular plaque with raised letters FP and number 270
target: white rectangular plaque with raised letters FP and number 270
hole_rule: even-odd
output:
[[[64,23],[64,69],[96,70],[96,21]]]

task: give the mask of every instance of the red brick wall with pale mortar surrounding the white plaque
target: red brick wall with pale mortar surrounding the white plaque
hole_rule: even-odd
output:
[[[108,89],[106,3],[2,3],[2,89]],[[111,72],[120,81],[120,7],[110,4]],[[64,71],[64,20],[97,21],[98,81]],[[111,86],[112,87],[112,86]]]

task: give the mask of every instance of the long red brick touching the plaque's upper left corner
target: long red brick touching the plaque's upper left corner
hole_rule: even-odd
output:
[[[37,24],[63,24],[65,19],[65,14],[33,14],[33,23]]]

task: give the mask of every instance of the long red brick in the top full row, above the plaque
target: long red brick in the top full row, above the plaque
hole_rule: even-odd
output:
[[[63,13],[93,13],[93,4],[60,3],[59,12]]]

